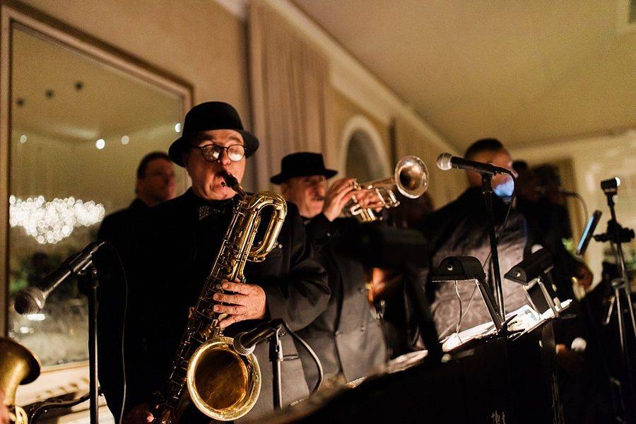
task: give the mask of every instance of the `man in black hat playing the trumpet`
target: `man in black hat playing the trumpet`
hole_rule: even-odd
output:
[[[348,249],[360,224],[355,218],[338,218],[353,196],[362,206],[381,204],[371,192],[354,191],[353,178],[338,179],[327,189],[326,180],[334,175],[320,153],[299,152],[285,156],[281,172],[271,177],[285,199],[298,205],[316,257],[329,275],[326,310],[299,331],[322,362],[326,387],[363,377],[387,360],[382,329],[367,299],[365,267]],[[304,351],[300,358],[312,387],[316,368]]]

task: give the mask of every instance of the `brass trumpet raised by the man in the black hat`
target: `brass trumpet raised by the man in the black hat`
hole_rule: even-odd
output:
[[[382,202],[382,207],[395,208],[400,204],[395,196],[395,189],[409,199],[417,199],[428,189],[428,179],[428,168],[424,161],[417,156],[410,155],[404,156],[395,165],[393,177],[376,179],[364,184],[354,181],[353,189],[358,191],[373,190]],[[348,201],[344,209],[348,211],[348,215],[355,216],[363,223],[382,219],[381,216],[376,215],[372,208],[363,208],[355,196]]]

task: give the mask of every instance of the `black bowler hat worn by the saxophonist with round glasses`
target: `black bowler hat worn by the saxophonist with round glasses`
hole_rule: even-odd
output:
[[[241,134],[245,142],[246,158],[253,155],[259,148],[259,139],[243,129],[241,118],[232,105],[225,102],[205,102],[196,105],[186,114],[181,136],[173,141],[168,149],[172,162],[184,166],[183,149],[190,146],[194,134],[209,129],[233,129]]]

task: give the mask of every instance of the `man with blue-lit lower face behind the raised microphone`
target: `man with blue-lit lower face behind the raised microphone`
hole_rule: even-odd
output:
[[[510,153],[495,139],[483,139],[473,143],[466,154],[466,159],[512,170]],[[423,232],[428,237],[430,253],[430,269],[423,271],[423,281],[427,281],[427,292],[431,300],[431,311],[440,337],[452,334],[460,320],[459,330],[472,328],[490,321],[490,315],[479,298],[473,284],[458,284],[457,291],[453,283],[433,283],[430,275],[437,269],[442,259],[454,256],[476,257],[486,273],[486,281],[492,286],[493,266],[490,258],[490,239],[488,238],[488,218],[485,213],[481,194],[481,175],[467,171],[470,187],[447,206],[431,213],[423,220]],[[497,233],[500,232],[514,183],[509,175],[493,177],[493,208]],[[505,273],[515,264],[522,261],[526,247],[526,223],[523,216],[514,209],[510,211],[505,230],[498,243],[500,271]],[[526,293],[522,285],[507,281],[502,276],[502,289],[507,312],[517,310],[526,303]],[[458,294],[459,292],[459,298]],[[471,301],[472,299],[472,301]]]

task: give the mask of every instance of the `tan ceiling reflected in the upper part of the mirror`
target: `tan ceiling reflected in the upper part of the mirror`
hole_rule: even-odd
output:
[[[181,119],[176,95],[57,43],[14,30],[12,55],[11,119],[19,132],[95,143]],[[47,90],[54,94],[47,97]]]

